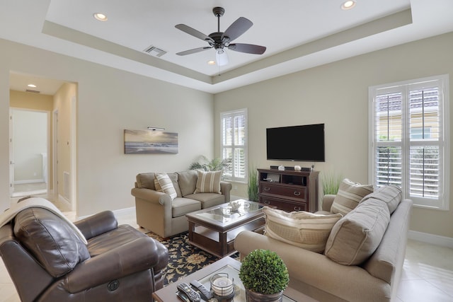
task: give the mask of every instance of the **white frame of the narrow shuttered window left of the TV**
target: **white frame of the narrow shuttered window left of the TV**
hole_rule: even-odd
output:
[[[245,117],[244,123],[244,144],[236,145],[236,141],[232,141],[231,145],[224,145],[223,137],[224,137],[224,128],[223,122],[224,118],[226,117],[235,117],[238,115],[243,115]],[[233,136],[234,140],[234,136]],[[232,149],[232,163],[231,163],[231,174],[232,175],[224,175],[225,180],[230,180],[232,182],[243,182],[246,183],[248,181],[248,114],[247,108],[239,109],[239,110],[231,110],[226,112],[220,112],[220,157],[224,159],[224,149]],[[234,158],[235,150],[236,149],[243,149],[244,154],[244,177],[239,177],[234,175],[234,171],[236,170],[236,160]]]

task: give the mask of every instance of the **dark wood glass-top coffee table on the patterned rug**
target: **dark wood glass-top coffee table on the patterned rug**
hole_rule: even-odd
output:
[[[233,204],[232,204],[233,203]],[[239,199],[219,206],[193,211],[189,222],[189,243],[217,257],[234,254],[234,238],[241,231],[258,231],[265,224],[265,204]],[[236,207],[232,207],[234,205]]]

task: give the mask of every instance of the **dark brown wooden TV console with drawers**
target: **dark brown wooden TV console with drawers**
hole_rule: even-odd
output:
[[[319,171],[258,169],[258,202],[284,211],[318,211]]]

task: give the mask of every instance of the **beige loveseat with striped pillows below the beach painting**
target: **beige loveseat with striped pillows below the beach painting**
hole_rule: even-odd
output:
[[[200,171],[188,170],[168,173],[176,190],[176,198],[169,194],[156,191],[154,186],[155,173],[137,175],[131,194],[135,197],[137,224],[147,228],[163,238],[188,231],[185,214],[200,209],[213,207],[229,202],[231,183],[219,182],[220,192],[197,192]],[[221,193],[221,194],[220,194]]]

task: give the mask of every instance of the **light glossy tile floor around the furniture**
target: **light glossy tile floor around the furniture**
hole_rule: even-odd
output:
[[[75,219],[74,212],[65,213]],[[134,214],[117,214],[120,224],[138,227]],[[0,262],[0,302],[20,301],[3,262]],[[395,302],[453,301],[453,249],[408,240],[403,276]]]

